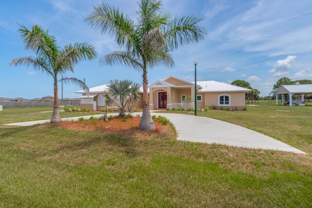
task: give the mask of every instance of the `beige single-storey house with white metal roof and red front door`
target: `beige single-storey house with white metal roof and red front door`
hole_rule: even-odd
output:
[[[93,110],[103,108],[104,97],[100,93],[105,89],[107,89],[106,85],[100,85],[90,88],[88,95],[83,91],[76,92],[82,94],[80,97],[81,107]],[[197,109],[203,109],[205,106],[209,106],[210,108],[236,108],[237,110],[243,110],[245,108],[245,93],[250,91],[250,89],[217,81],[198,81],[196,93]],[[176,76],[169,76],[149,84],[148,93],[151,110],[179,107],[194,108],[194,82]],[[136,108],[142,108],[142,101],[137,103]]]

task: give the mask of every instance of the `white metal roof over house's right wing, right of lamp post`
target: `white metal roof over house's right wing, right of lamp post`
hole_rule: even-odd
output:
[[[198,81],[202,88],[198,92],[250,92],[252,90],[217,81]]]

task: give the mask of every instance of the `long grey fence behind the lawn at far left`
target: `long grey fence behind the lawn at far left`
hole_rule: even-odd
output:
[[[61,105],[59,101],[59,105]],[[53,101],[5,101],[0,102],[3,108],[53,106]],[[80,105],[80,100],[63,100],[63,105]]]

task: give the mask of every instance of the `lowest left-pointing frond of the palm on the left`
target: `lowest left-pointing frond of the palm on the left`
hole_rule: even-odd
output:
[[[20,57],[15,58],[10,62],[10,66],[32,66],[35,70],[45,72],[55,77],[49,63],[42,57]]]

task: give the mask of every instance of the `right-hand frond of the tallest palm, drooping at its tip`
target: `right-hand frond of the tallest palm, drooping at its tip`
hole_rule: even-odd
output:
[[[204,27],[197,25],[201,20],[202,18],[194,16],[176,17],[166,27],[163,27],[169,49],[175,50],[185,44],[203,40],[207,31]]]

